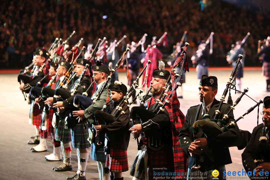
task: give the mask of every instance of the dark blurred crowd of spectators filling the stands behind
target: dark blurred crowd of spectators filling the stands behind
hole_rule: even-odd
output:
[[[173,52],[185,30],[185,42],[190,43],[188,57],[198,49],[198,41],[214,32],[210,67],[229,66],[226,54],[231,45],[250,32],[244,45],[245,66],[261,66],[258,40],[270,35],[269,9],[269,1],[264,0],[2,0],[0,68],[29,65],[37,47],[48,50],[56,37],[65,40],[73,30],[76,33],[68,42],[71,47],[82,37],[82,45],[87,47],[98,38],[106,37],[110,42],[126,35],[120,53],[144,33],[148,34],[146,49],[153,36],[159,39],[168,32],[168,46],[159,47],[164,58]]]

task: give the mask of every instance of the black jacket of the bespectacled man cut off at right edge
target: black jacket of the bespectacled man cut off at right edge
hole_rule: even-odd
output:
[[[258,164],[260,164],[255,164],[255,159],[264,159],[264,162],[270,162],[269,139],[266,141],[265,144],[259,141],[263,126],[264,124],[259,124],[253,129],[248,145],[242,153],[242,163],[246,172],[253,171],[253,169],[255,169]]]

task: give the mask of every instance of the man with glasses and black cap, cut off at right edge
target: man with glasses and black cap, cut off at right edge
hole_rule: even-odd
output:
[[[242,153],[245,171],[252,171],[249,178],[269,176],[265,172],[270,171],[270,96],[264,98],[261,115],[263,123],[253,129],[248,145]]]

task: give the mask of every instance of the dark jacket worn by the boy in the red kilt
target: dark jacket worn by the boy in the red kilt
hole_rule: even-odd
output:
[[[116,106],[120,103],[122,99],[112,103],[112,106],[110,107],[109,113],[111,114]],[[127,108],[127,105],[123,106],[123,110]],[[114,121],[110,124],[102,124],[102,132],[105,132],[107,137],[110,141],[110,145],[114,147],[120,147],[124,150],[127,150],[127,147],[129,146],[129,139],[130,139],[130,131],[129,131],[129,108],[125,111],[126,113],[120,116],[117,121]],[[119,114],[119,113],[118,113]],[[117,115],[118,116],[118,115]]]

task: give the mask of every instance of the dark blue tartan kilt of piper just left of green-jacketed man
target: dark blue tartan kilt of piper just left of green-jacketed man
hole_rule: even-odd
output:
[[[77,120],[75,119],[75,121]],[[88,125],[85,120],[84,123],[86,125],[86,128],[84,128],[82,122],[76,124],[74,127],[71,128],[70,134],[73,148],[83,149],[90,147],[90,142],[87,141],[87,138],[89,136]]]

